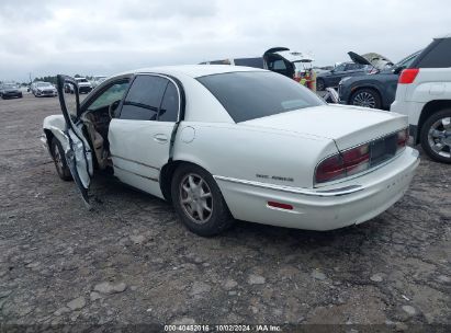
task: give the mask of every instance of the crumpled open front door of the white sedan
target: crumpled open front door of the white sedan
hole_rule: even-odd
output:
[[[93,174],[92,152],[83,135],[83,123],[80,120],[80,99],[77,81],[74,78],[58,74],[57,90],[66,122],[66,142],[60,143],[65,150],[66,162],[74,181],[84,204],[90,207],[88,190]]]

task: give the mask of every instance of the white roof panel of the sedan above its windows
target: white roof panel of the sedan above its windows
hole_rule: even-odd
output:
[[[140,68],[120,74],[132,73],[161,73],[168,76],[185,74],[191,78],[200,78],[205,76],[221,74],[226,72],[244,72],[244,71],[268,71],[255,67],[229,66],[229,65],[183,65],[183,66],[165,66]],[[120,76],[117,74],[117,76]]]

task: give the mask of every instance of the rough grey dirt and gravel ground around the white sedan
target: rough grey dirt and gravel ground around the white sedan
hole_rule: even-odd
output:
[[[407,195],[358,227],[203,239],[106,176],[88,211],[38,139],[58,112],[0,100],[0,323],[451,324],[449,165],[422,154]]]

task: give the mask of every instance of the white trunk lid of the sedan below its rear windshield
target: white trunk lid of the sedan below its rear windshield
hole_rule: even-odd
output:
[[[347,105],[323,105],[239,123],[335,140],[338,149],[376,139],[408,126],[397,113]]]

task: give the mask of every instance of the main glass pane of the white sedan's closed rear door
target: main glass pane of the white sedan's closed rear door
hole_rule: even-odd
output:
[[[121,119],[156,120],[168,80],[157,76],[138,76],[122,106]]]

